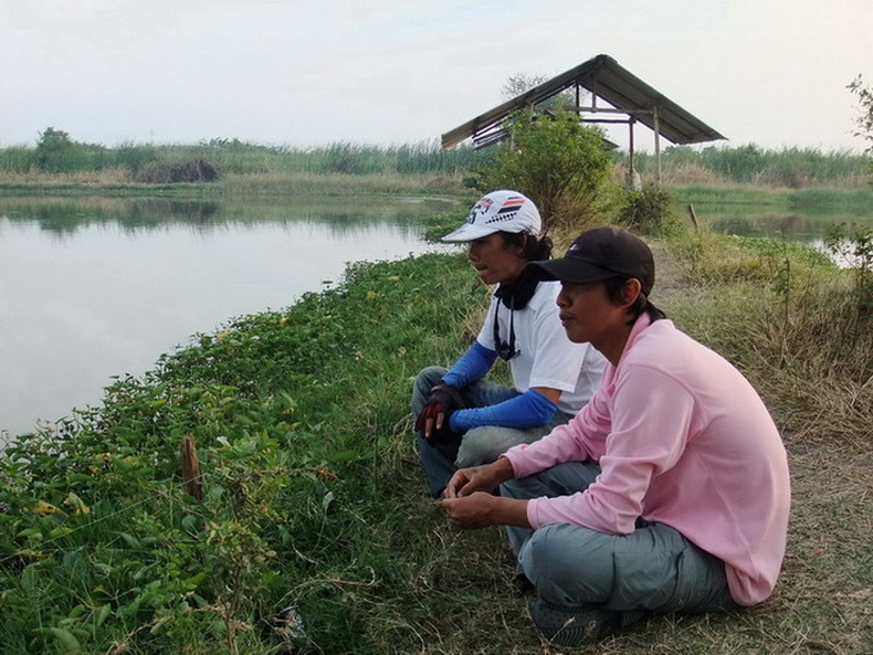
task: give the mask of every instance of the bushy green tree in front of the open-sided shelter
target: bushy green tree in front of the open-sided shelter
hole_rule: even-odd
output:
[[[472,186],[483,192],[525,193],[539,208],[546,230],[589,218],[612,166],[602,133],[564,109],[543,115],[516,112],[506,129],[509,139],[498,146],[494,163],[480,169]]]

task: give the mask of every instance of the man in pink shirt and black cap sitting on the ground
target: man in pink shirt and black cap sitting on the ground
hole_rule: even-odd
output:
[[[559,645],[655,612],[765,601],[790,482],[758,393],[649,300],[654,260],[630,232],[583,232],[564,257],[528,267],[560,281],[564,329],[607,370],[570,423],[457,471],[441,501],[450,520],[507,527],[519,580],[536,591],[532,619]]]

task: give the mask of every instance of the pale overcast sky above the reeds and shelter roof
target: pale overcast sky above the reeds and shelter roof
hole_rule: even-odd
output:
[[[598,54],[728,146],[864,147],[873,0],[0,0],[0,147],[438,142]]]

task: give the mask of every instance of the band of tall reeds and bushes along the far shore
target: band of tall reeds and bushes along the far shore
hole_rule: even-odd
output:
[[[196,145],[126,142],[115,147],[76,141],[49,127],[35,147],[0,149],[0,184],[77,182],[92,184],[164,184],[203,182],[244,176],[440,176],[460,182],[496,156],[496,149],[456,147],[438,142],[367,146],[336,142],[313,148],[257,145],[239,139],[212,139]],[[619,170],[627,155],[613,152]],[[662,152],[665,186],[756,184],[767,188],[828,187],[861,189],[869,184],[870,157],[850,151],[810,148],[771,150],[755,145],[725,147],[676,146]],[[644,181],[655,175],[651,154],[635,155]]]

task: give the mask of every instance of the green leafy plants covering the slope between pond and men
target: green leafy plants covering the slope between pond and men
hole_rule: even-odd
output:
[[[397,540],[428,537],[410,539],[399,505],[381,501],[391,485],[378,472],[408,454],[409,378],[434,353],[421,326],[477,296],[452,262],[361,265],[350,286],[202,335],[145,380],[119,380],[99,413],[8,450],[0,649],[41,653],[70,633],[85,652],[197,652],[295,603],[325,651],[380,652],[368,617],[383,605],[404,615],[380,593],[421,563],[395,560]],[[453,311],[422,302],[433,277]],[[203,504],[177,477],[186,434]],[[87,514],[65,505],[73,489]],[[243,647],[251,638],[234,647],[275,646]]]

